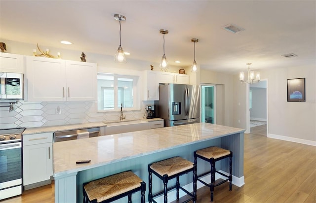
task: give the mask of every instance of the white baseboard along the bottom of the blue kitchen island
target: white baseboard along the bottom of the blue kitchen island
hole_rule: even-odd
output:
[[[223,171],[223,170],[219,170],[219,171],[222,172],[222,173],[224,173],[224,174],[229,174],[229,173],[227,173],[227,172],[225,172],[225,171]],[[224,177],[224,176],[222,176],[221,174],[215,173],[215,180],[217,180],[217,179],[219,179],[219,178],[225,179],[225,178],[227,178],[227,177]],[[203,180],[203,181],[206,182],[206,183],[210,183],[210,182],[211,182],[211,177],[210,177],[210,175],[205,175],[205,176],[203,176],[203,177],[200,178],[200,179]],[[180,183],[180,184],[181,184],[181,183]],[[244,182],[244,176],[238,178],[238,177],[236,177],[236,176],[233,175],[232,184],[233,184],[233,185],[236,185],[237,187],[243,186],[243,185],[245,184],[245,182]],[[203,186],[204,186],[204,185],[203,185],[201,182],[197,181],[197,189],[199,189],[199,188],[201,188],[201,187],[203,187]],[[191,183],[189,183],[189,184],[187,184],[187,185],[185,185],[185,186],[182,186],[182,187],[183,187],[184,189],[186,189],[187,191],[189,191],[189,192],[193,192],[193,182],[191,182]],[[186,195],[185,192],[183,192],[182,190],[179,190],[179,197],[183,197],[183,196],[185,196],[185,195]],[[155,198],[155,200],[156,200],[156,202],[158,202],[158,203],[163,203],[163,195],[161,195],[161,196]],[[168,202],[172,202],[172,201],[175,201],[175,200],[176,200],[176,190],[174,189],[174,190],[172,190],[171,192],[168,192]]]

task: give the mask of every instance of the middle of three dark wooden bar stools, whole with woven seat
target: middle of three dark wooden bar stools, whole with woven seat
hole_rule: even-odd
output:
[[[159,162],[155,162],[152,164],[148,165],[148,173],[149,173],[149,194],[148,194],[148,199],[149,202],[152,203],[157,203],[154,198],[162,195],[163,194],[163,203],[167,203],[168,202],[168,197],[167,197],[167,192],[176,188],[177,191],[177,200],[179,200],[179,189],[181,189],[182,191],[184,191],[186,194],[188,194],[189,196],[191,196],[190,199],[186,200],[184,203],[187,203],[189,201],[193,201],[194,203],[196,203],[197,201],[197,180],[195,180],[197,178],[197,167],[194,163],[183,159],[181,157],[172,157],[166,160],[162,160]],[[189,191],[187,191],[186,189],[184,189],[183,187],[180,186],[180,182],[179,182],[179,176],[186,174],[188,172],[193,172],[193,194],[191,194]],[[152,173],[154,173],[155,175],[157,175],[158,178],[160,178],[163,182],[163,191],[158,192],[156,194],[152,193]],[[173,178],[177,178],[176,179],[176,184],[172,187],[167,187],[168,184],[168,180],[171,180]]]

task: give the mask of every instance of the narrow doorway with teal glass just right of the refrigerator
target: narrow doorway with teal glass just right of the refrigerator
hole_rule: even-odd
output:
[[[201,85],[201,123],[216,123],[216,85]]]

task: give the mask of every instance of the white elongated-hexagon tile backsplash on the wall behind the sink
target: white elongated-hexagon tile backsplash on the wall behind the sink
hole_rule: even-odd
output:
[[[56,114],[59,106],[61,114]],[[24,102],[14,104],[14,110],[0,109],[0,129],[32,128],[80,124],[87,122],[106,122],[119,120],[120,112],[97,112],[95,102]],[[144,110],[124,111],[126,119],[143,118]]]

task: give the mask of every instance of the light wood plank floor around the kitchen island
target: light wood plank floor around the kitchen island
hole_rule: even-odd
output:
[[[245,134],[244,177],[245,185],[231,192],[228,183],[216,187],[214,203],[316,203],[316,147]],[[48,185],[1,203],[53,202]],[[198,189],[197,203],[209,202],[209,188]]]

